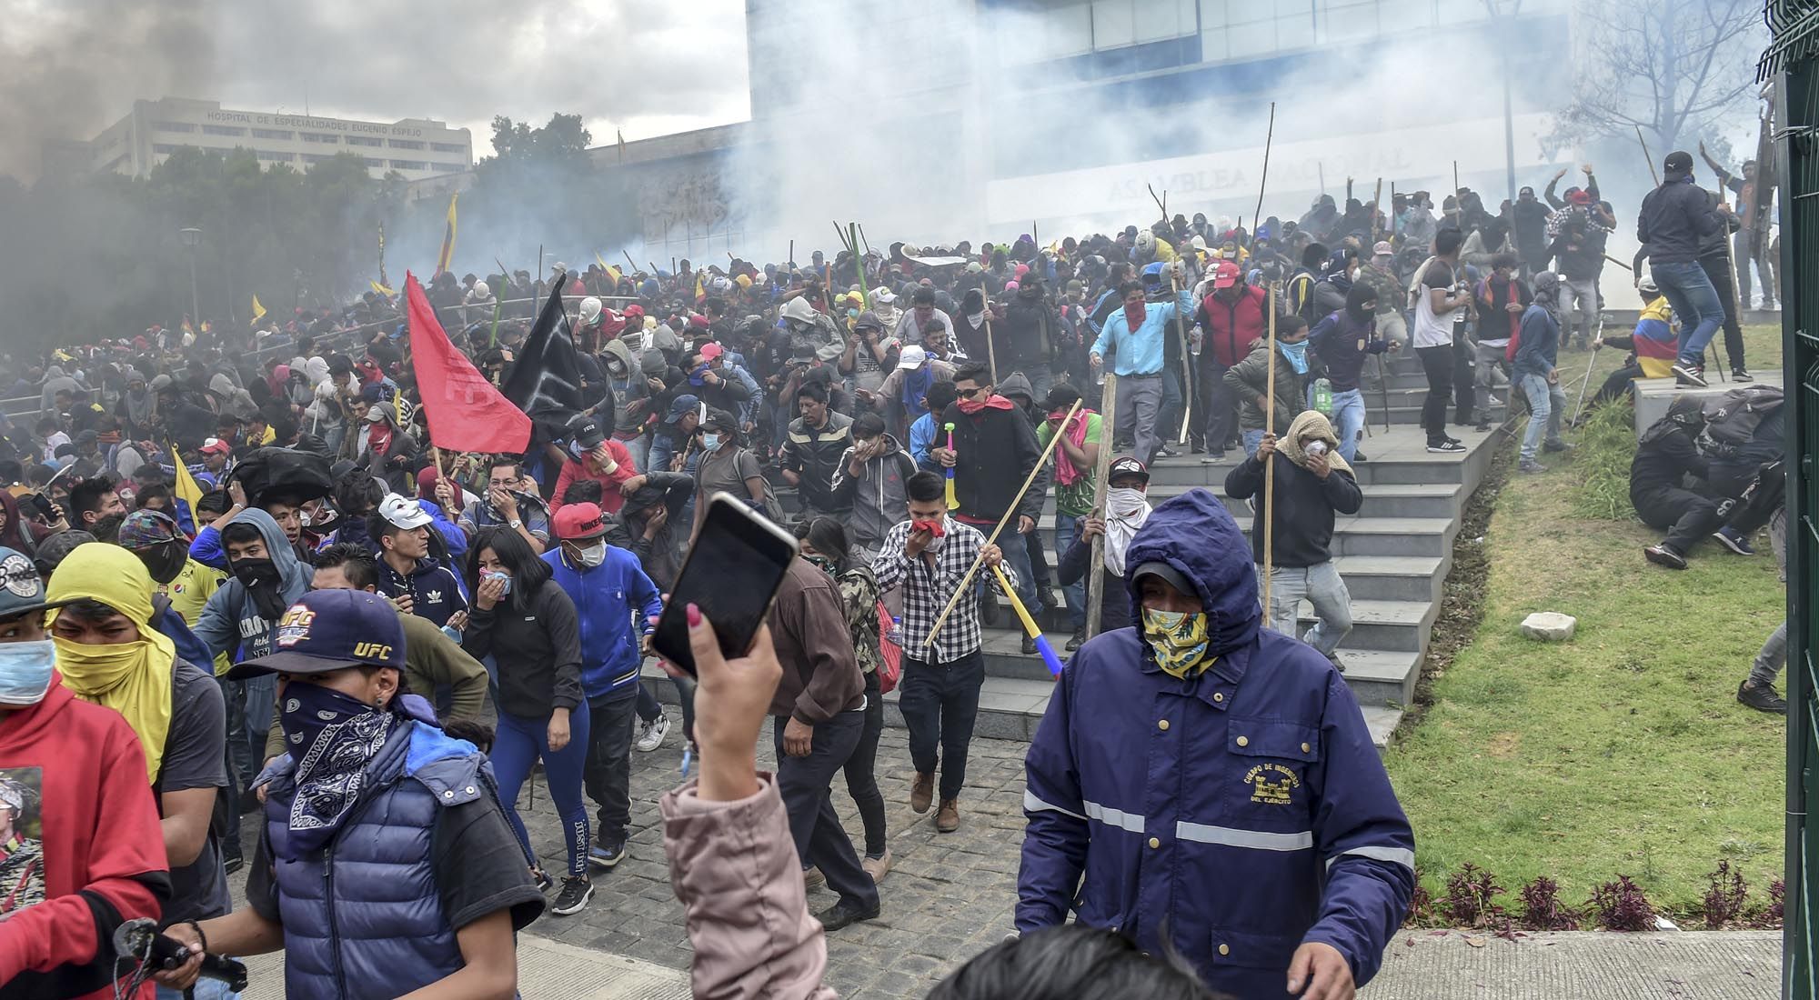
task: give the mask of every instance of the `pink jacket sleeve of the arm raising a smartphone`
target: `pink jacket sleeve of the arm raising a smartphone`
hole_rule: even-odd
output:
[[[669,884],[688,913],[695,996],[835,1000],[828,942],[808,913],[802,862],[777,780],[740,802],[702,802],[697,782],[666,795]]]

